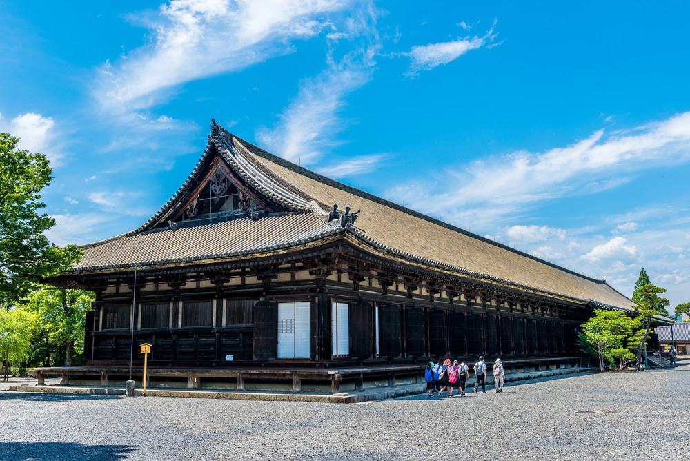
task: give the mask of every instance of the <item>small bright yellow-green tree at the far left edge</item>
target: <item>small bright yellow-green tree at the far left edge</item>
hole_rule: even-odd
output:
[[[32,314],[17,308],[0,308],[0,361],[7,381],[11,364],[19,366],[31,351]]]

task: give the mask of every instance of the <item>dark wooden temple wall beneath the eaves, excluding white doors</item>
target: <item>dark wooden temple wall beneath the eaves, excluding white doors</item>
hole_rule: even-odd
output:
[[[95,364],[128,361],[134,324],[135,346],[152,344],[149,360],[161,365],[328,366],[578,354],[577,328],[583,319],[572,308],[544,311],[494,298],[468,300],[464,295],[451,302],[442,291],[431,295],[427,286],[409,290],[400,281],[386,290],[375,277],[365,277],[356,288],[346,271],[333,271],[319,283],[293,264],[270,277],[269,284],[249,274],[221,282],[204,273],[173,284],[152,279],[137,287],[132,308],[130,280],[129,285],[108,286],[97,296],[88,317],[85,353]],[[279,320],[278,305],[286,302],[308,308],[304,328],[309,352],[302,360],[278,357],[279,332],[290,326]],[[347,353],[337,357],[335,302],[339,315],[347,316],[347,331],[340,328],[339,335],[349,344]],[[140,359],[136,349],[133,358]]]

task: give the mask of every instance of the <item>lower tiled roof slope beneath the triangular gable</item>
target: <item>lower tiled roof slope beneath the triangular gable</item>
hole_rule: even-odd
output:
[[[163,228],[84,246],[83,259],[74,269],[93,271],[248,255],[312,242],[340,231],[314,213],[295,212],[270,214],[257,221],[243,217],[175,230]]]

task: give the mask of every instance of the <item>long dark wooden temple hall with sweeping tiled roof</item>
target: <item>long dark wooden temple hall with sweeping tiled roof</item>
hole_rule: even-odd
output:
[[[186,373],[192,387],[248,389],[268,373],[337,392],[478,355],[508,373],[571,369],[593,308],[633,311],[604,280],[313,173],[215,122],[158,213],[82,248],[48,282],[95,291],[85,355],[106,382],[130,356],[141,366],[144,342],[152,380]]]

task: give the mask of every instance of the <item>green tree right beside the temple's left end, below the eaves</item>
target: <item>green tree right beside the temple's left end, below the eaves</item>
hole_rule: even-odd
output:
[[[34,347],[43,363],[50,353],[64,357],[64,366],[72,366],[72,357],[83,351],[84,316],[95,300],[84,290],[43,287],[28,297],[21,309],[34,318]]]

